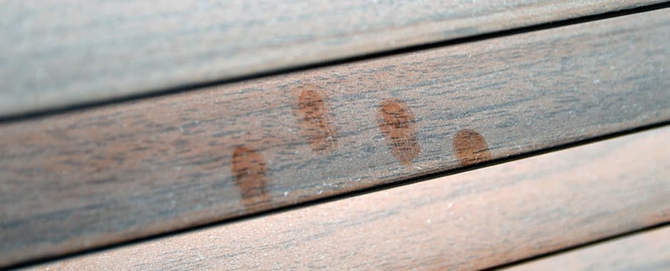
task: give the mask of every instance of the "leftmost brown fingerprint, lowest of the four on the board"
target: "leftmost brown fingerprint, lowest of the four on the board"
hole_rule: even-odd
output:
[[[267,165],[263,156],[256,150],[237,147],[232,153],[232,174],[240,190],[245,208],[269,201],[267,195]]]

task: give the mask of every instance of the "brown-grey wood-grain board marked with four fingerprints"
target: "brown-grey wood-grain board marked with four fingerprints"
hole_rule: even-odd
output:
[[[0,263],[668,121],[669,14],[4,123]],[[479,136],[454,148],[466,129]]]

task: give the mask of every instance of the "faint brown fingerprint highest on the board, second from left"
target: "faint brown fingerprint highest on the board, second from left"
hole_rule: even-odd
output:
[[[329,115],[326,94],[314,85],[296,88],[298,98],[297,115],[303,135],[315,152],[332,151],[337,147],[336,130]]]

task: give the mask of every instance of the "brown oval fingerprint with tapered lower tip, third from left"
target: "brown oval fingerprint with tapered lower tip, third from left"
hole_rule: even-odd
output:
[[[407,103],[395,98],[386,99],[377,113],[377,123],[393,155],[403,165],[411,165],[421,149],[416,140],[416,118]]]

